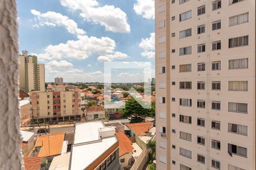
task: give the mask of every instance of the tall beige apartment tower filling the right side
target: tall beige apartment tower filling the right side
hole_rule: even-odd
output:
[[[255,1],[155,0],[156,169],[255,169]]]

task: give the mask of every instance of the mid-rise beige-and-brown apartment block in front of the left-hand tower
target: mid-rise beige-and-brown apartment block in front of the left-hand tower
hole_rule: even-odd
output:
[[[31,116],[39,121],[64,121],[81,117],[81,92],[53,87],[52,91],[30,92]]]

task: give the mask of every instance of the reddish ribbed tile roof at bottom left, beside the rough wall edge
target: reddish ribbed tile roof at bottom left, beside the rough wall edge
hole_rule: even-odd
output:
[[[39,170],[43,157],[25,157],[23,158],[25,170]]]

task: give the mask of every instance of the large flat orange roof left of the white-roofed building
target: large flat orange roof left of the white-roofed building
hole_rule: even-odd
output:
[[[64,135],[64,132],[60,132],[39,136],[35,143],[35,147],[42,147],[38,156],[53,156],[61,154]]]

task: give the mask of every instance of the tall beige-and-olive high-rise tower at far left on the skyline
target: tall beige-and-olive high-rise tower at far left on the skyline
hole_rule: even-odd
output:
[[[38,57],[28,56],[26,50],[19,55],[19,88],[30,92],[46,91],[44,64],[38,63]]]

